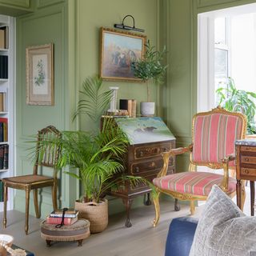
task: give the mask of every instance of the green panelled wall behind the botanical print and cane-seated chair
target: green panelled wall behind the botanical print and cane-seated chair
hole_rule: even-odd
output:
[[[70,108],[74,108],[72,69],[68,68],[68,5],[65,1],[37,1],[34,13],[18,16],[17,21],[17,78],[16,78],[16,175],[30,174],[32,163],[26,148],[31,134],[36,134],[47,125],[59,130],[74,129],[71,123]],[[26,47],[54,43],[54,106],[29,106],[26,104]],[[69,78],[71,74],[71,78]],[[72,88],[72,91],[70,91]],[[31,145],[30,145],[31,146]],[[46,170],[42,170],[43,173]],[[63,206],[70,205],[76,197],[75,181],[61,175],[59,201]],[[70,190],[70,187],[73,190]],[[31,193],[32,195],[32,193]],[[61,196],[60,196],[61,195]],[[51,191],[40,191],[42,217],[52,210]],[[17,193],[14,208],[24,211],[25,194]],[[34,214],[33,198],[30,200],[30,213]]]

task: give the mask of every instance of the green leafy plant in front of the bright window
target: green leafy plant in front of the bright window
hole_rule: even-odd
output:
[[[234,85],[234,79],[228,78],[226,87],[216,90],[219,98],[218,105],[229,111],[240,110],[247,117],[247,134],[256,134],[254,121],[256,94],[246,90],[238,90]]]

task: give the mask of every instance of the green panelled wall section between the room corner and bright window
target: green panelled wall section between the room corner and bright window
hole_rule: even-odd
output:
[[[162,0],[161,44],[166,44],[169,64],[162,92],[163,115],[177,138],[177,146],[191,142],[191,120],[197,112],[197,15],[239,6],[251,0]],[[189,155],[178,157],[178,170],[186,170]]]

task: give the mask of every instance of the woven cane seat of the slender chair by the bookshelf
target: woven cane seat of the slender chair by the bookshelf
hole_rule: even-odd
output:
[[[24,175],[24,176],[16,176],[5,178],[6,182],[18,183],[18,184],[33,184],[35,182],[54,182],[54,178],[47,176],[39,176],[39,175]]]

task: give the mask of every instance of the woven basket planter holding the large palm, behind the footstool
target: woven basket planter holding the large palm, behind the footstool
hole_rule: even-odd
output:
[[[74,203],[75,210],[79,211],[78,218],[85,218],[90,222],[90,233],[99,233],[106,229],[109,222],[108,202],[78,202]]]

